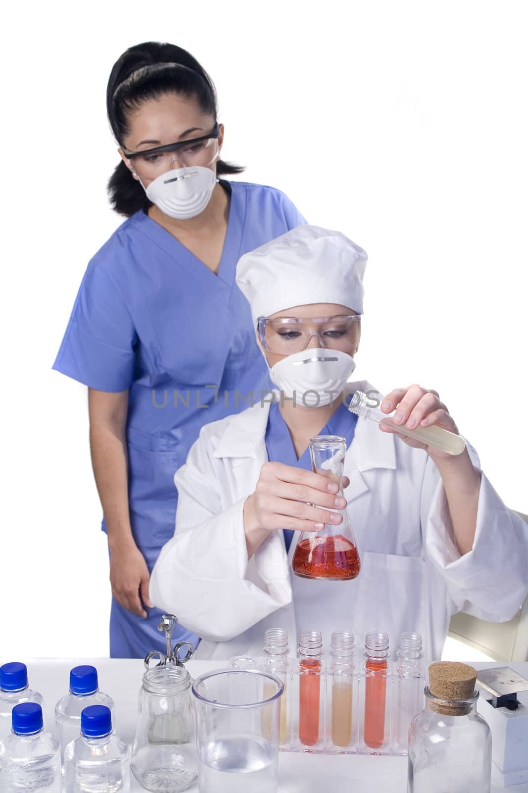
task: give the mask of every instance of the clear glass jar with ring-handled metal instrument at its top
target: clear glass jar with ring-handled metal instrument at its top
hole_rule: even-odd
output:
[[[177,642],[172,648],[175,623],[174,615],[163,615],[158,630],[165,631],[166,653],[153,650],[145,658],[138,725],[131,751],[132,772],[142,787],[168,793],[188,790],[198,777],[191,701],[193,680],[184,668],[185,661],[192,657],[193,647],[188,642]],[[159,659],[158,664],[150,667],[154,658]]]

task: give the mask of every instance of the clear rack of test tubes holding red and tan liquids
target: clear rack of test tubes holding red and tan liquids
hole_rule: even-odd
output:
[[[281,700],[282,752],[406,756],[408,726],[425,707],[427,664],[420,661],[414,676],[402,676],[396,661],[386,672],[370,674],[356,660],[351,674],[321,668],[306,672],[299,659],[289,658],[287,671],[277,672],[268,658],[255,668],[272,672],[284,684]]]

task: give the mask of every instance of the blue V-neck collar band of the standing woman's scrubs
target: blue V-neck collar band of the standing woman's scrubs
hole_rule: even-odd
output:
[[[229,182],[229,184],[231,187],[230,208],[227,218],[226,239],[224,239],[218,274],[213,273],[201,259],[198,259],[196,255],[180,243],[179,239],[176,239],[143,211],[136,213],[133,218],[135,228],[158,247],[161,247],[179,266],[184,267],[203,289],[222,292],[228,300],[234,285],[237,261],[240,258],[246,208],[246,196],[243,186],[237,184],[237,182]]]

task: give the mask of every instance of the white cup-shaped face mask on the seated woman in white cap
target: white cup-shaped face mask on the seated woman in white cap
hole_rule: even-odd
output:
[[[335,401],[354,370],[355,360],[348,353],[316,348],[287,355],[271,367],[269,376],[285,397],[295,396],[295,404],[313,408]]]

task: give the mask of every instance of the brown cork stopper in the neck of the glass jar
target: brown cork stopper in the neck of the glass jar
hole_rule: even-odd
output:
[[[454,661],[439,661],[429,667],[429,691],[438,699],[449,700],[449,703],[430,701],[429,707],[436,713],[447,716],[463,716],[471,711],[471,707],[462,704],[461,700],[472,699],[477,682],[477,670],[467,664]]]

